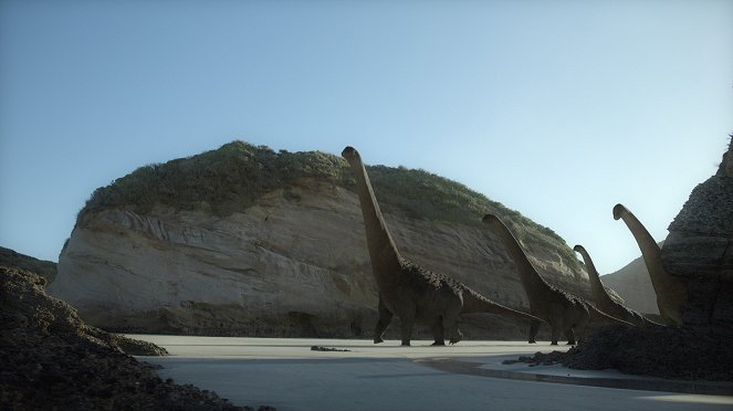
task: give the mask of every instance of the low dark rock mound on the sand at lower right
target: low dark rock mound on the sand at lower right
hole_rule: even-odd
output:
[[[699,329],[606,327],[567,352],[537,352],[519,361],[580,370],[680,380],[733,381],[733,338]]]

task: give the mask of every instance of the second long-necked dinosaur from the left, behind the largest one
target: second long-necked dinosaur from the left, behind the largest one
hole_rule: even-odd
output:
[[[582,340],[591,320],[598,325],[619,323],[631,325],[599,312],[583,298],[567,294],[547,284],[532,265],[519,241],[516,241],[514,234],[506,228],[504,222],[492,214],[484,215],[482,221],[499,235],[509,255],[514,261],[520,282],[530,299],[530,314],[549,323],[553,329],[552,345],[557,345],[561,331],[565,334],[568,345],[575,344],[576,336],[578,340]],[[530,326],[530,344],[536,342],[535,337],[538,330],[540,323],[532,323]]]

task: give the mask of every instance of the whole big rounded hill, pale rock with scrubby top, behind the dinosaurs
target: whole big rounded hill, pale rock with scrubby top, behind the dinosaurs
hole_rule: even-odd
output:
[[[548,282],[588,295],[587,275],[552,230],[423,170],[368,172],[398,247],[416,263],[526,309],[513,263],[480,222],[492,212]],[[50,293],[105,329],[368,337],[377,295],[366,250],[345,160],[233,141],[97,189]],[[464,320],[469,336],[526,333],[501,317]]]

